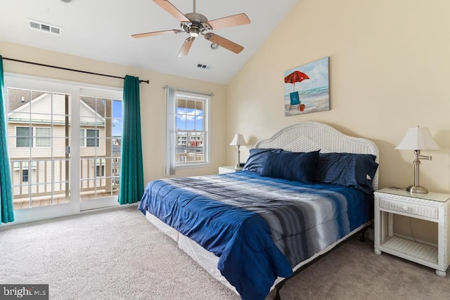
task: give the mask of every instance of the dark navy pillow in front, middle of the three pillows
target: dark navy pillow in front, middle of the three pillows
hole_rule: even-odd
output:
[[[269,153],[261,176],[311,184],[316,174],[319,151]]]

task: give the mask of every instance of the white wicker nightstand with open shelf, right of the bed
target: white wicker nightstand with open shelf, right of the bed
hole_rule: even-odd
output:
[[[375,254],[381,252],[434,268],[446,275],[450,264],[450,195],[411,194],[406,190],[383,188],[375,192]],[[437,245],[416,242],[394,233],[394,214],[437,223]]]

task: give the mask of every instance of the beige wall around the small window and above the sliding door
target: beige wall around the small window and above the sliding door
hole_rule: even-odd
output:
[[[149,79],[150,84],[141,84],[141,128],[143,144],[144,181],[163,178],[164,128],[165,128],[165,90],[164,86],[174,86],[203,93],[213,93],[210,106],[211,137],[210,137],[210,167],[179,169],[176,176],[195,176],[217,174],[219,166],[226,162],[226,86],[210,82],[186,79],[158,72],[142,70],[138,67],[125,67],[97,60],[89,60],[63,53],[30,48],[18,44],[0,41],[0,54],[4,58],[28,60],[36,63],[56,65],[89,72],[111,74],[123,77],[125,74]],[[146,58],[143,58],[146,59]],[[25,63],[4,60],[4,72],[28,74],[39,77],[50,77],[87,84],[123,87],[122,79],[102,77],[79,72],[58,70],[50,67],[40,67]]]

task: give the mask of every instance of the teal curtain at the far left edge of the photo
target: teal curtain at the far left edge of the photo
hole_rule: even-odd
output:
[[[0,56],[0,223],[14,221],[13,186],[9,166],[8,141],[6,141],[5,82],[3,78],[3,58]]]

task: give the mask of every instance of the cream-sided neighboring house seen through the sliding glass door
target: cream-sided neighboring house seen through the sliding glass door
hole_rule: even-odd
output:
[[[121,137],[105,138],[111,136],[113,125],[105,118],[102,101],[82,97],[79,116],[80,191],[110,192],[118,184]],[[15,200],[30,197],[29,189],[33,197],[69,193],[71,117],[75,116],[69,96],[8,89],[8,149]]]

